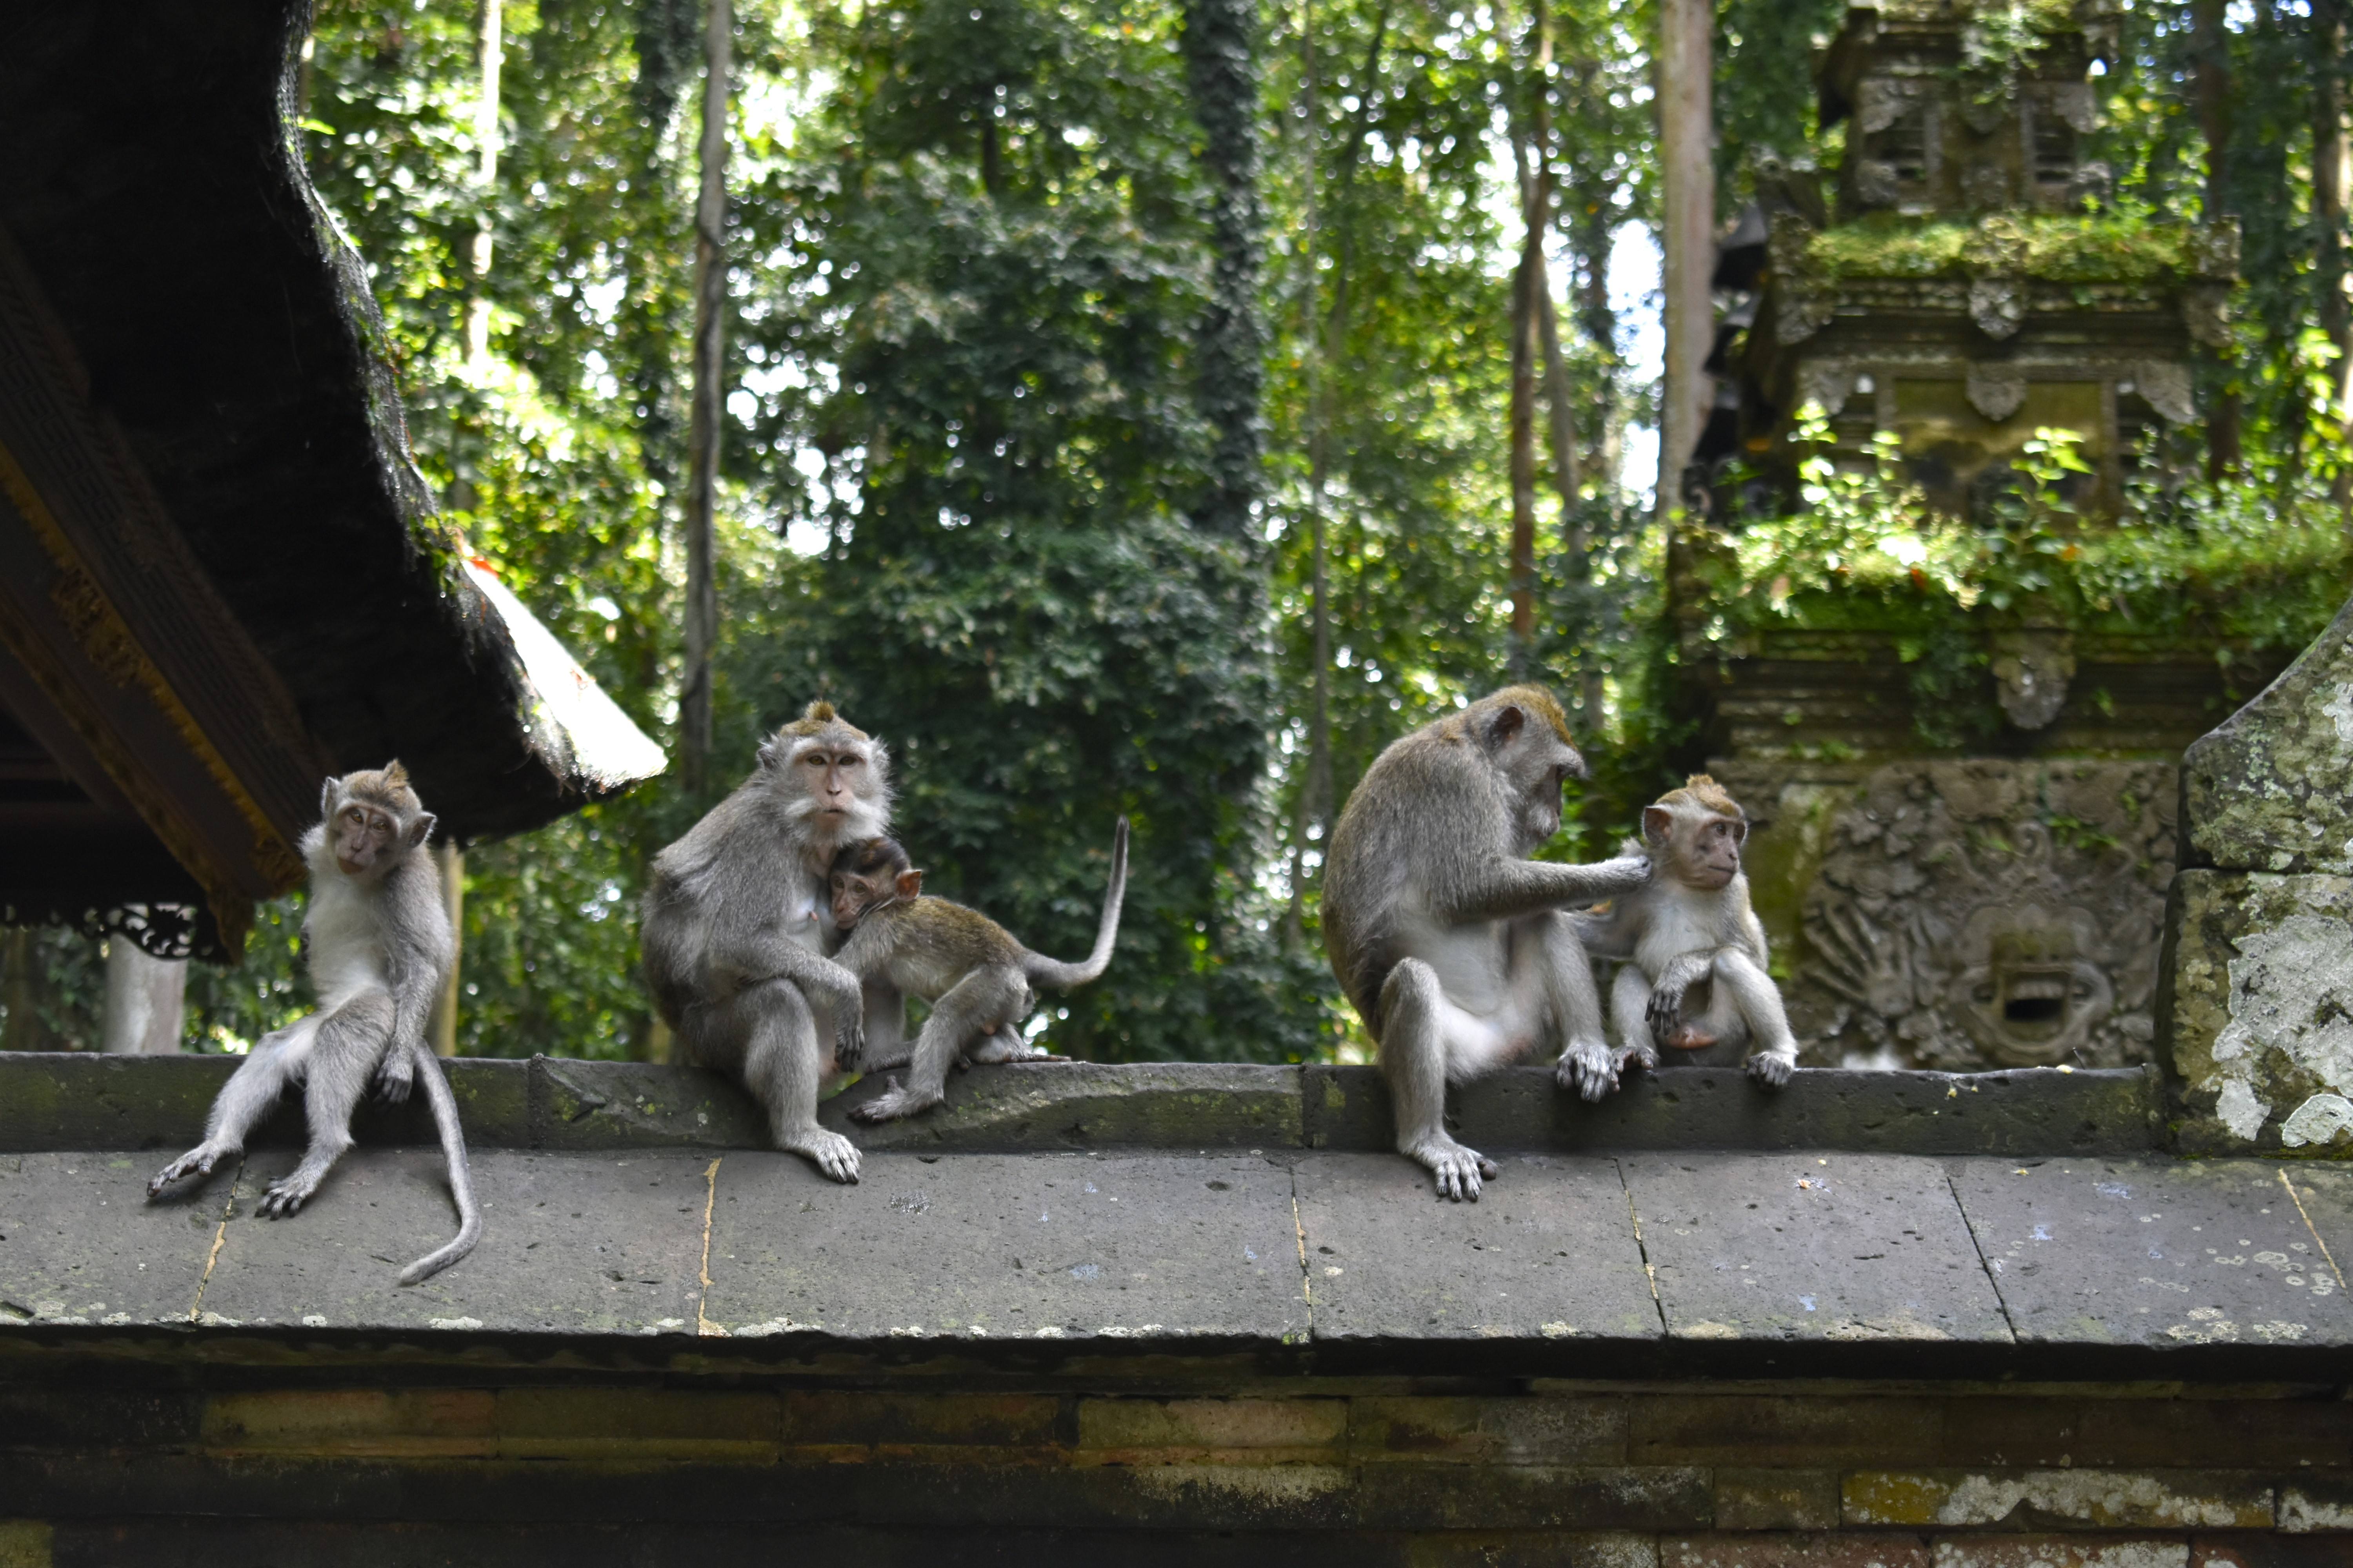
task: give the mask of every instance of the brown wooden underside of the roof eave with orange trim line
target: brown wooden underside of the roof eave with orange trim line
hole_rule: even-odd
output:
[[[254,900],[301,879],[294,842],[327,755],[89,404],[73,343],[5,233],[0,705],[82,795],[0,799],[5,891],[28,914],[167,889],[162,867],[141,865],[141,825],[202,893],[207,947],[240,950]],[[113,875],[92,877],[92,858]]]

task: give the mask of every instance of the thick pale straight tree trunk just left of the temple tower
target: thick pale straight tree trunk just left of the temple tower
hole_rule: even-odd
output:
[[[1682,505],[1682,470],[1708,416],[1708,346],[1715,310],[1715,169],[1711,160],[1715,9],[1659,0],[1659,174],[1666,252],[1666,376],[1659,397],[1659,512]]]

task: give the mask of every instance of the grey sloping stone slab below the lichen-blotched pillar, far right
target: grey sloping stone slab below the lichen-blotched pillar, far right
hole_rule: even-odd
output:
[[[2278,1166],[1972,1159],[1953,1180],[2024,1342],[2353,1342]]]

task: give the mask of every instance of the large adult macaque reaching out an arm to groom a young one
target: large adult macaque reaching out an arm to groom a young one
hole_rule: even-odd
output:
[[[1558,1079],[1617,1088],[1593,969],[1565,910],[1642,886],[1647,860],[1544,865],[1560,788],[1584,778],[1541,686],[1506,686],[1381,752],[1332,830],[1322,889],[1332,973],[1381,1046],[1398,1152],[1475,1199],[1494,1161],[1445,1128],[1447,1081],[1560,1041]]]

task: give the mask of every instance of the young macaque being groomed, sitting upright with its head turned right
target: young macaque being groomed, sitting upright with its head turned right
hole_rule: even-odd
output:
[[[1657,867],[1649,886],[1577,922],[1591,952],[1631,959],[1609,990],[1619,1063],[1657,1067],[1666,1046],[1694,1065],[1729,1065],[1753,1041],[1748,1077],[1781,1088],[1798,1037],[1765,969],[1765,926],[1748,907],[1748,816],[1722,785],[1692,773],[1642,806],[1642,839]]]

